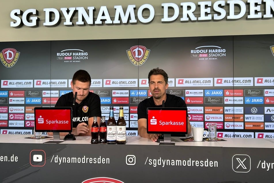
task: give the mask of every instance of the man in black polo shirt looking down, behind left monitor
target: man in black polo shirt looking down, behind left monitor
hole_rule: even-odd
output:
[[[100,97],[89,91],[91,78],[85,70],[76,71],[70,84],[72,92],[62,95],[55,107],[72,107],[72,134],[91,135],[90,128],[93,123],[93,116],[97,116],[97,123],[101,121]],[[73,106],[75,92],[77,92],[77,97]],[[61,136],[66,134],[60,133]]]

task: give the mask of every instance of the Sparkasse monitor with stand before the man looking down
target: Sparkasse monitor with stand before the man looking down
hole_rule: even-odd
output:
[[[35,107],[36,132],[53,132],[53,140],[60,141],[60,132],[72,132],[71,107]]]

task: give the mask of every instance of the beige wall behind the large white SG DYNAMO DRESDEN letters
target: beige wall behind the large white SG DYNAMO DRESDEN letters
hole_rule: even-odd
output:
[[[164,1],[175,3],[180,7],[179,0]],[[196,4],[196,17],[199,15],[198,0],[192,0]],[[212,3],[215,1],[212,1]],[[244,1],[246,2],[246,1]],[[137,24],[131,25],[86,25],[77,26],[77,14],[73,18],[73,27],[66,27],[61,22],[57,27],[43,26],[45,15],[44,8],[55,8],[60,11],[60,8],[69,7],[84,7],[87,10],[88,6],[95,6],[95,17],[101,6],[106,5],[109,14],[114,20],[115,10],[114,5],[122,5],[124,10],[127,5],[136,5],[137,9],[143,4],[151,4],[155,9],[155,18],[152,23],[142,24],[137,19]],[[31,40],[92,40],[92,39],[122,39],[122,38],[163,38],[163,37],[190,37],[190,36],[219,36],[219,35],[250,35],[250,34],[272,34],[274,28],[274,20],[258,19],[246,20],[247,14],[240,20],[221,20],[208,22],[186,22],[181,23],[182,8],[180,15],[173,23],[161,23],[163,17],[163,9],[161,7],[163,1],[148,1],[148,0],[9,0],[1,2],[0,11],[0,41],[31,41]],[[27,9],[37,9],[39,11],[39,27],[31,28],[22,26],[21,28],[10,27],[10,12],[14,9],[25,11]],[[247,10],[248,11],[248,10]],[[227,11],[228,12],[228,11]],[[264,5],[261,5],[261,12],[264,12]],[[214,13],[213,11],[211,12]],[[146,12],[144,12],[144,15]],[[64,20],[64,17],[62,17]]]

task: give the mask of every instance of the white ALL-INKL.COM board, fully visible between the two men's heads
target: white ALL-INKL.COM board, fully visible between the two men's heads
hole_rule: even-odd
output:
[[[137,79],[104,79],[104,87],[138,87]]]

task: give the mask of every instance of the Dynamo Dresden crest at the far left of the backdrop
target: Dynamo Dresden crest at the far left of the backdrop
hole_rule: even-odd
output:
[[[16,51],[14,48],[6,48],[0,52],[0,59],[2,64],[10,68],[14,66],[19,58],[20,52]]]

